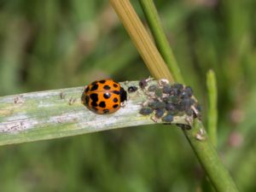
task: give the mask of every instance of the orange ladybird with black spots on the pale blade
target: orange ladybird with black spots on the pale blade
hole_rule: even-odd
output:
[[[127,100],[127,93],[113,79],[103,79],[89,84],[81,100],[84,106],[94,113],[114,113]]]

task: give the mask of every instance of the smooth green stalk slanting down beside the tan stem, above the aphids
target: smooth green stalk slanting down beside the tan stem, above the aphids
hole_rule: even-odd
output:
[[[165,32],[160,24],[160,18],[157,13],[157,9],[154,6],[152,0],[140,0],[143,12],[148,20],[148,26],[153,33],[155,44],[160,50],[161,55],[166,61],[167,67],[172,72],[174,79],[184,84],[182,73],[177,65],[177,61],[172,53],[172,48],[168,43]]]

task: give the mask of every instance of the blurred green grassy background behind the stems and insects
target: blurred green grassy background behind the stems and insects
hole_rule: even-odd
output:
[[[256,1],[155,2],[206,125],[215,71],[218,152],[241,191],[256,191]],[[0,96],[148,76],[108,1],[0,1]],[[0,192],[201,191],[203,177],[182,131],[165,125],[0,148]]]

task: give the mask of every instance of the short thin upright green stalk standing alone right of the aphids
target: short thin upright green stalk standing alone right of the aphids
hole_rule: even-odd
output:
[[[215,73],[209,70],[207,73],[207,90],[208,90],[208,127],[207,131],[213,146],[217,147],[217,123],[218,123],[218,109],[217,109],[217,82]]]

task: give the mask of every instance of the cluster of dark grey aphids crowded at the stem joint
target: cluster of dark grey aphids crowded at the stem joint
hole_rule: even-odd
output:
[[[193,98],[193,90],[183,84],[169,84],[166,79],[160,79],[158,84],[148,85],[150,79],[140,81],[140,87],[148,95],[149,100],[143,103],[140,113],[154,113],[152,119],[162,119],[171,123],[176,115],[186,113],[189,117],[200,117],[200,106]]]

